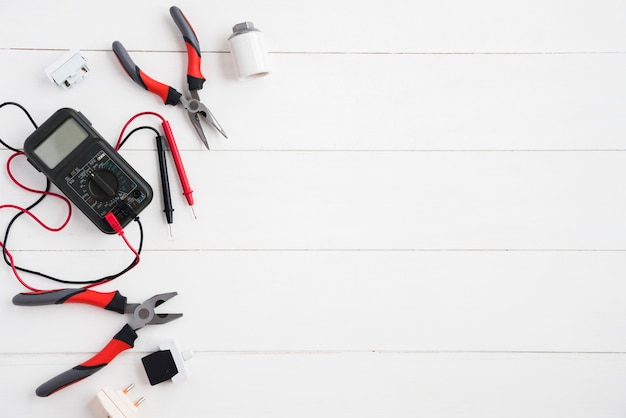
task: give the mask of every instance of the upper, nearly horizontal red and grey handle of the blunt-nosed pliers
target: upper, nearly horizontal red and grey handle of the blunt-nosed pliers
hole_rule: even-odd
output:
[[[63,303],[84,303],[123,314],[126,310],[126,300],[126,296],[122,296],[118,291],[103,293],[89,289],[58,289],[19,293],[13,297],[13,304],[18,306],[44,306]]]

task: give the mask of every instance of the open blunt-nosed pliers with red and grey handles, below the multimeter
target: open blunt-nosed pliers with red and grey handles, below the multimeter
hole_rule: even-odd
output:
[[[109,364],[118,354],[134,347],[137,331],[146,325],[165,324],[183,314],[158,314],[154,309],[177,295],[177,292],[161,293],[142,303],[126,303],[120,292],[102,293],[89,289],[59,289],[42,292],[19,293],[13,304],[19,306],[42,306],[62,303],[85,303],[109,311],[130,314],[131,319],[115,334],[113,339],[98,354],[89,360],[53,377],[37,388],[37,396],[49,396],[73,383],[91,376]]]

